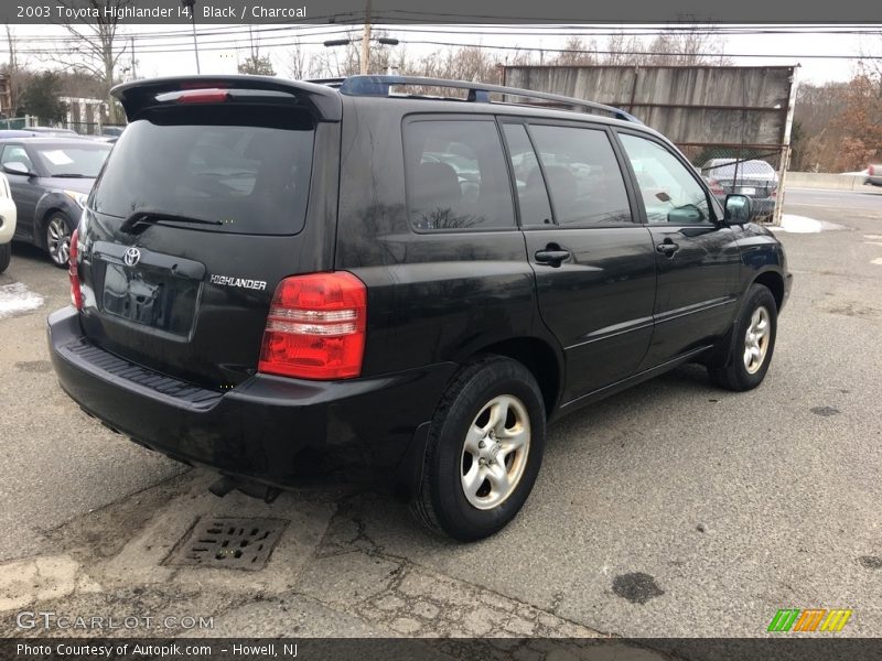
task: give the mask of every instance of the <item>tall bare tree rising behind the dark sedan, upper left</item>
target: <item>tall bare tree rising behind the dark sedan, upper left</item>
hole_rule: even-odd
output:
[[[75,37],[75,43],[55,59],[73,71],[85,71],[100,80],[107,99],[107,119],[118,122],[117,106],[110,96],[115,83],[115,71],[119,58],[126,53],[128,43],[119,33],[119,15],[136,0],[55,0],[66,9],[83,8],[84,4],[97,13],[97,18],[64,23]],[[73,13],[73,12],[72,12]],[[76,57],[74,59],[73,56]]]

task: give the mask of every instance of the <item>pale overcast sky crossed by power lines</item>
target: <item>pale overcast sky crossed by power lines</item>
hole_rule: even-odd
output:
[[[270,54],[275,69],[279,75],[288,75],[288,61],[290,58],[290,44],[293,41],[291,31],[267,30],[278,28],[271,25],[252,25],[255,43],[260,47],[261,54]],[[646,32],[647,29],[635,25],[623,26],[625,30],[636,30]],[[304,26],[299,33],[303,43],[321,42],[326,39],[340,39],[346,36],[344,31],[348,29],[349,34],[359,39],[361,25],[313,25]],[[483,44],[487,46],[509,46],[517,43],[523,48],[560,48],[563,46],[566,37],[556,36],[546,28],[540,35],[501,35],[497,31],[523,31],[529,32],[530,28],[507,25],[494,29],[487,25],[460,25],[460,26],[432,26],[432,25],[380,25],[375,29],[383,30],[388,36],[400,39],[402,42],[409,41],[441,41],[459,44]],[[585,28],[588,29],[588,28]],[[617,26],[605,25],[596,30],[611,32]],[[811,26],[806,26],[810,30]],[[725,34],[714,35],[718,50],[739,65],[763,66],[763,65],[800,65],[799,80],[810,83],[824,83],[827,80],[847,80],[854,71],[857,59],[824,59],[809,58],[806,55],[850,55],[861,54],[882,55],[882,24],[862,25],[861,30],[874,29],[873,35],[858,34]],[[122,29],[127,34],[137,34],[143,39],[136,42],[136,57],[138,77],[164,76],[195,73],[195,59],[192,51],[192,36],[187,32],[187,25],[129,25]],[[224,35],[230,30],[237,32],[235,35]],[[245,46],[249,42],[247,26],[244,25],[197,25],[197,36],[201,45],[200,61],[202,73],[225,74],[236,73],[237,61],[247,56]],[[567,29],[571,31],[572,29]],[[337,31],[337,33],[330,33]],[[444,31],[441,33],[439,31]],[[217,33],[222,34],[217,34]],[[450,32],[450,33],[448,33]],[[19,37],[19,47],[39,47],[33,45],[33,37],[54,39],[64,36],[66,33],[63,28],[55,25],[17,25],[13,34]],[[164,36],[163,36],[164,35]],[[312,36],[310,36],[312,35]],[[606,36],[595,37],[599,47],[603,48]],[[643,37],[648,43],[652,37]],[[42,42],[49,43],[49,42]],[[286,45],[273,45],[286,44]],[[234,46],[239,46],[238,48]],[[386,46],[390,48],[406,48],[409,57],[420,57],[437,52],[443,46],[406,43],[399,46]],[[322,45],[304,45],[306,52],[324,50]],[[3,48],[6,50],[6,48]],[[151,51],[178,50],[176,53],[159,53]],[[506,51],[494,51],[499,62],[505,61]],[[763,54],[775,55],[775,57],[739,57],[740,54]],[[553,56],[549,53],[547,56]],[[2,55],[6,57],[6,55]],[[32,66],[46,66],[37,56],[24,56],[25,62]],[[127,58],[120,62],[120,68],[129,66]]]

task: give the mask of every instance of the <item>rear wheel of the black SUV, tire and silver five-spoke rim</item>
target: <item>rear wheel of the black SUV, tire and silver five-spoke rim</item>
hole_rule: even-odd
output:
[[[498,356],[466,365],[432,419],[413,514],[461,542],[502,530],[536,483],[545,431],[542,393],[524,365]]]

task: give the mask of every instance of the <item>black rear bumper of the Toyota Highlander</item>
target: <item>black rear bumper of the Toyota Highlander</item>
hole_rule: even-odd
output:
[[[320,464],[320,473],[357,467],[412,480],[424,436],[417,430],[456,368],[348,381],[256,375],[216,392],[92,345],[73,307],[50,315],[49,345],[64,391],[107,426],[173,458],[278,487],[299,484]]]

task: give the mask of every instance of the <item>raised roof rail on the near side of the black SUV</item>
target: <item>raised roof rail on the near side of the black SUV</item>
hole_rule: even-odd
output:
[[[447,80],[444,78],[423,78],[420,76],[349,76],[347,78],[327,78],[324,80],[311,80],[312,83],[322,83],[331,87],[340,89],[341,94],[351,96],[389,96],[389,88],[396,85],[411,85],[423,87],[449,87],[453,89],[467,89],[467,101],[472,102],[492,102],[490,99],[491,94],[504,94],[508,96],[517,96],[529,99],[541,99],[544,101],[555,101],[567,106],[574,106],[588,110],[600,110],[609,112],[616,119],[631,121],[642,124],[643,122],[621,108],[606,106],[604,104],[596,104],[594,101],[587,101],[584,99],[576,99],[573,97],[561,96],[558,94],[548,94],[545,91],[533,91],[530,89],[520,89],[518,87],[505,87],[503,85],[485,85],[484,83],[467,83],[465,80]]]

